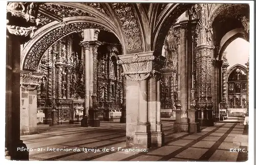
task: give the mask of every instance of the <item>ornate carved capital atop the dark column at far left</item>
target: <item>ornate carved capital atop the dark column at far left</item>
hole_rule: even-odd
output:
[[[39,3],[9,2],[7,3],[7,30],[10,34],[26,38],[33,37],[36,25]]]

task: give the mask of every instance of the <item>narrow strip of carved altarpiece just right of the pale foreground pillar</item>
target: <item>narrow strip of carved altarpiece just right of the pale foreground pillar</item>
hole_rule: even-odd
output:
[[[175,100],[178,89],[178,51],[180,34],[177,27],[171,28],[164,43],[165,65],[161,79],[161,117],[175,118]]]

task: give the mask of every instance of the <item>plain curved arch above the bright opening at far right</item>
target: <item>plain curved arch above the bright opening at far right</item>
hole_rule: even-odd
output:
[[[221,40],[221,45],[220,45],[220,49],[219,49],[219,60],[222,60],[222,54],[224,53],[225,49],[227,48],[227,46],[234,41],[237,38],[242,38],[244,40],[244,33],[243,30],[240,31],[241,29],[234,29],[232,31],[229,31],[228,33],[226,33],[226,35],[222,38]]]

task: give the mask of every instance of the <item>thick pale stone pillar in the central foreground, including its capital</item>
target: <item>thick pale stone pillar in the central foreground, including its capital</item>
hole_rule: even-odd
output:
[[[121,55],[119,59],[118,64],[122,65],[124,69],[122,74],[126,77],[126,145],[146,148],[154,145],[161,146],[162,144],[158,143],[163,143],[163,141],[152,143],[152,130],[160,126],[160,123],[156,122],[158,121],[157,113],[160,116],[160,109],[157,111],[156,83],[153,83],[156,80],[151,76],[152,73],[159,73],[153,70],[153,66],[161,61],[153,56],[153,52]],[[133,68],[140,69],[134,70]],[[155,122],[150,121],[154,125],[151,125],[148,119],[155,119]],[[162,139],[161,135],[154,138]]]

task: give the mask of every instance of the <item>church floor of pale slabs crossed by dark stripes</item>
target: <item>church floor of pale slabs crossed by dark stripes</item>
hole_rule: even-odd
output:
[[[247,160],[247,147],[236,146],[232,143],[234,136],[247,134],[243,125],[215,123],[215,126],[212,127],[201,127],[199,133],[175,133],[173,121],[163,121],[162,124],[165,133],[165,145],[142,152],[135,150],[126,152],[129,151],[128,149],[136,149],[136,147],[125,146],[125,124],[117,122],[101,122],[98,128],[84,128],[79,125],[53,127],[41,125],[38,126],[39,134],[25,135],[21,139],[29,149],[33,149],[30,152],[30,160]],[[111,151],[112,147],[113,151]],[[119,150],[118,147],[120,147]],[[50,149],[62,149],[62,151],[50,151]],[[86,149],[88,152],[84,152]],[[245,152],[230,152],[230,149],[244,149]]]

